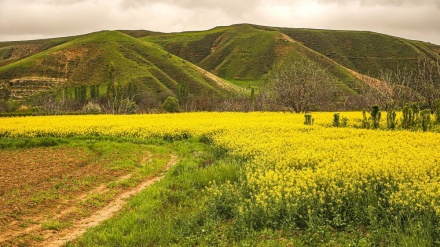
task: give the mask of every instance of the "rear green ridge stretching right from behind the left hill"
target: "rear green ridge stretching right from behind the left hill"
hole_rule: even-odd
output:
[[[440,46],[373,32],[264,27],[239,24],[208,31],[149,35],[162,46],[237,84],[258,84],[286,51],[319,62],[355,89],[359,76],[417,66],[420,54],[440,56]],[[355,73],[353,73],[355,72]],[[357,74],[358,73],[358,74]],[[245,84],[246,85],[246,84]]]

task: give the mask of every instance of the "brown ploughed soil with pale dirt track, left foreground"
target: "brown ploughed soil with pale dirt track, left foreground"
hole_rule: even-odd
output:
[[[115,155],[97,159],[70,147],[0,151],[0,246],[60,246],[111,217],[125,199],[161,178],[156,174],[138,179],[134,188],[113,188],[110,183],[138,181],[134,173],[103,165]],[[145,165],[153,156],[138,158]],[[163,169],[174,163],[172,156]],[[105,198],[95,198],[99,196]]]

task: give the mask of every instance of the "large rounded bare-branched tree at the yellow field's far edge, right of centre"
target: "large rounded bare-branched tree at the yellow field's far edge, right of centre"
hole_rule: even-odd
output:
[[[267,79],[274,103],[297,113],[331,101],[333,78],[305,57],[287,57],[275,65]]]

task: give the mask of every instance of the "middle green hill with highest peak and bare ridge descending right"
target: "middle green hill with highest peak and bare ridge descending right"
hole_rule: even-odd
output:
[[[341,87],[356,88],[361,83],[339,64],[276,28],[242,24],[201,32],[152,35],[142,40],[154,42],[238,85],[261,85],[267,72],[288,54],[318,62],[338,79]]]

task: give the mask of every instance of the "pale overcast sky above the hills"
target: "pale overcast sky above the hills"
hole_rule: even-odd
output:
[[[440,44],[440,0],[0,0],[0,41],[236,23],[366,30]]]

